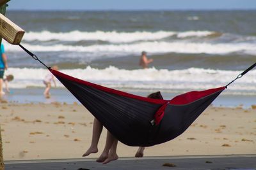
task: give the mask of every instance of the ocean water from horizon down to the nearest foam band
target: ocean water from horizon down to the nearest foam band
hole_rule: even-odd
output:
[[[22,44],[63,68],[138,69],[142,50],[157,69],[241,70],[255,62],[255,11],[8,11]],[[38,67],[8,46],[13,67]],[[42,66],[40,66],[42,67]]]

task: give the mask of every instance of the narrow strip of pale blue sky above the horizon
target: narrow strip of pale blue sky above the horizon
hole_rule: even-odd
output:
[[[256,0],[11,0],[8,10],[256,10]]]

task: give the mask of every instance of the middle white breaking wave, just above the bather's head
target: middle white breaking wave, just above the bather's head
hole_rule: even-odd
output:
[[[6,45],[6,51],[21,51],[19,46]],[[124,56],[129,54],[138,54],[143,50],[148,53],[209,53],[209,54],[227,54],[227,53],[246,53],[256,54],[256,44],[253,43],[192,43],[192,42],[140,42],[133,44],[112,44],[112,45],[90,45],[90,46],[72,46],[72,45],[30,45],[22,43],[28,49],[34,52],[86,52],[90,55],[99,56]]]

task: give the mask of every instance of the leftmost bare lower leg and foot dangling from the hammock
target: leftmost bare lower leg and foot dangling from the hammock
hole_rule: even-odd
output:
[[[100,134],[102,132],[103,125],[94,118],[93,120],[93,129],[92,129],[92,143],[90,148],[83,154],[83,157],[90,155],[90,153],[97,153],[98,152],[98,143],[100,139]]]

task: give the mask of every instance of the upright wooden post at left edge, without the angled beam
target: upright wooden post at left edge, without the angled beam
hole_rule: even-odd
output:
[[[5,15],[7,2],[10,0],[0,0],[0,13]],[[2,38],[0,37],[0,46],[2,43]],[[1,49],[0,49],[1,50]],[[1,127],[0,127],[0,170],[4,170],[4,159],[3,159],[3,143],[2,143],[2,134],[1,134]]]

